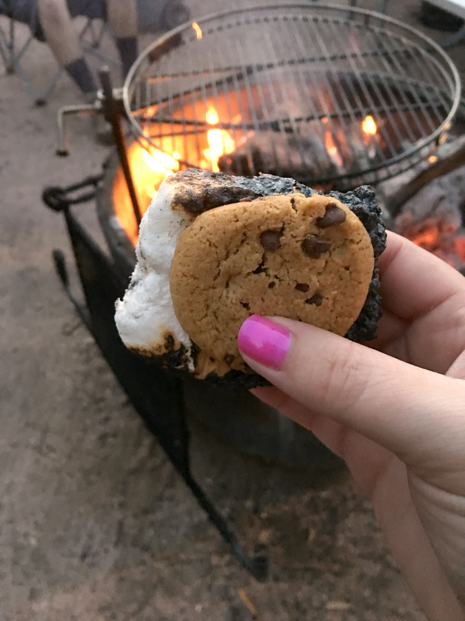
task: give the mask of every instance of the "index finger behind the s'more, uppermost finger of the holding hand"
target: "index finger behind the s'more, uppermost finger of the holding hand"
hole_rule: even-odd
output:
[[[401,319],[426,315],[456,293],[465,295],[462,274],[396,233],[388,233],[378,267],[383,307]]]

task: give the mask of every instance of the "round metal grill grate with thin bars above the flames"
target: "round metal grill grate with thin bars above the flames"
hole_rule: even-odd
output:
[[[459,93],[455,66],[420,32],[318,4],[235,10],[172,30],[133,66],[124,99],[138,141],[180,168],[349,189],[430,155]]]

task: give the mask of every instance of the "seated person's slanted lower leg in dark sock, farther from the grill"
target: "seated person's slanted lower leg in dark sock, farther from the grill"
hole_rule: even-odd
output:
[[[50,49],[81,91],[92,97],[97,90],[83,57],[79,37],[65,0],[37,0],[39,20]]]

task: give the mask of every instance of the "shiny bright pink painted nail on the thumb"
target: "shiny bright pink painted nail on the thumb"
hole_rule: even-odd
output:
[[[284,363],[290,344],[289,330],[259,315],[246,319],[238,334],[240,351],[275,371]]]

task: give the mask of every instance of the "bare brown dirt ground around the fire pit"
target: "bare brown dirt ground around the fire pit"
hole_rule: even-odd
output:
[[[419,4],[391,13],[415,23]],[[190,3],[196,16],[237,5]],[[464,63],[464,45],[451,55]],[[55,70],[37,42],[23,66],[39,87]],[[70,123],[70,157],[54,156],[56,110],[77,99],[63,76],[34,108],[0,68],[1,620],[249,621],[253,607],[262,621],[424,620],[348,478],[327,486],[194,429],[199,482],[249,551],[269,550],[258,583],[139,420],[50,257],[70,250],[43,186],[96,173],[107,154],[86,117]]]

